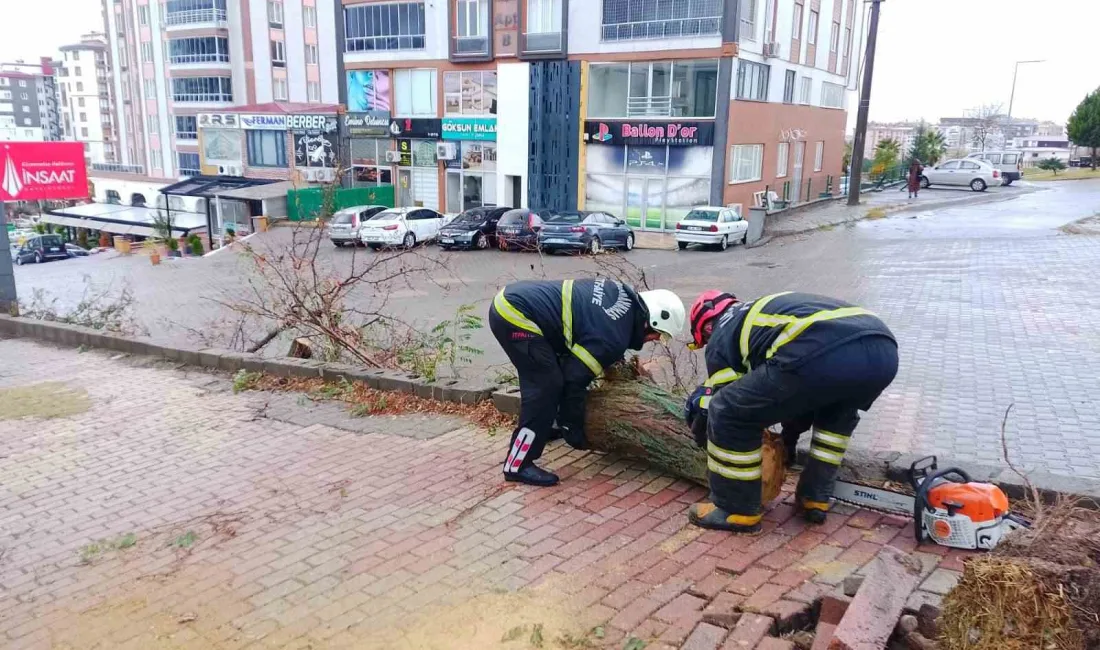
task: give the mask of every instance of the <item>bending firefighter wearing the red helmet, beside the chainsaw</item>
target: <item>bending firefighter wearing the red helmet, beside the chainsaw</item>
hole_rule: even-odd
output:
[[[848,440],[898,373],[898,343],[870,311],[812,294],[743,302],[711,290],[690,310],[692,346],[706,346],[707,381],[688,400],[695,442],[706,448],[711,500],[694,504],[703,528],[760,530],[762,431],[788,422],[784,441],[813,426],[810,459],[795,493],[821,524]],[[801,430],[800,430],[801,429]]]

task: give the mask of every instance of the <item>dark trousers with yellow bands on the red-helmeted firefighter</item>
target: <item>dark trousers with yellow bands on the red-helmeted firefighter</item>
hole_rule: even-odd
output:
[[[810,460],[796,497],[804,508],[827,510],[859,411],[870,409],[897,374],[897,343],[872,335],[844,343],[794,370],[765,363],[724,386],[711,399],[707,423],[715,505],[746,521],[759,517],[763,429],[812,418]]]

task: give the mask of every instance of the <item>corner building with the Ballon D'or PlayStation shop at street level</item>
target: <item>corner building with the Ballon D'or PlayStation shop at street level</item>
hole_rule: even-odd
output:
[[[855,0],[603,0],[598,22],[580,0],[342,1],[354,183],[400,205],[667,229],[836,189]]]

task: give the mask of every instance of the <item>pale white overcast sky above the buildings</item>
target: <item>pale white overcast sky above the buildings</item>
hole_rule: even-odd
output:
[[[575,1],[575,0],[574,0]],[[102,30],[100,0],[0,0],[0,60],[37,60],[80,34]],[[857,5],[861,2],[857,2]],[[871,119],[959,115],[982,103],[1065,123],[1100,86],[1090,53],[1100,0],[884,0],[871,92]],[[855,123],[853,96],[849,125]]]

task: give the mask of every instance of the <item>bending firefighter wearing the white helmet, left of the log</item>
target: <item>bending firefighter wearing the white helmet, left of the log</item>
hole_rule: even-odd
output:
[[[683,301],[666,289],[637,293],[606,278],[527,280],[501,289],[490,329],[519,375],[519,425],[512,434],[504,477],[554,485],[558,476],[535,465],[558,436],[586,449],[584,406],[588,384],[627,350],[683,330]],[[557,426],[556,426],[557,422]]]

